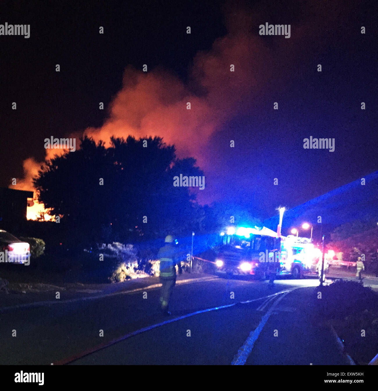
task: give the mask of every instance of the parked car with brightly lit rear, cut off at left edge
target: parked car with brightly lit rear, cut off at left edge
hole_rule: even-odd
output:
[[[30,262],[29,243],[22,242],[7,231],[0,230],[0,262],[28,265]]]

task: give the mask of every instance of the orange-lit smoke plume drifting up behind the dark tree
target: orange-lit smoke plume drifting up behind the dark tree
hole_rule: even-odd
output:
[[[233,3],[226,7],[234,7]],[[216,39],[210,50],[197,53],[187,83],[165,70],[151,70],[148,64],[147,72],[127,66],[122,88],[110,103],[103,126],[89,127],[84,134],[105,143],[111,136],[160,136],[176,146],[178,157],[193,156],[205,172],[214,171],[207,156],[213,134],[239,111],[248,111],[248,102],[266,95],[273,85],[277,87],[271,72],[279,72],[281,56],[295,61],[300,56],[298,48],[306,45],[306,38],[314,39],[316,34],[327,31],[318,25],[316,30],[311,27],[314,14],[320,24],[327,25],[327,18],[322,16],[327,9],[321,12],[310,7],[303,12],[303,24],[297,26],[297,34],[287,40],[276,40],[272,50],[257,33],[259,23],[266,22],[269,7],[261,5],[259,14],[243,7],[225,11],[228,34]],[[57,151],[46,150],[46,159]],[[16,188],[32,190],[32,177],[41,164],[44,163],[32,158],[25,160],[25,176],[18,180]]]

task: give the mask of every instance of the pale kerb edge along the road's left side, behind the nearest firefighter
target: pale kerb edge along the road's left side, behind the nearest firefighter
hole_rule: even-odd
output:
[[[188,278],[186,280],[176,281],[176,285],[182,285],[182,284],[191,283],[191,282],[206,282],[206,281],[213,281],[213,280],[218,280],[218,279],[219,279],[218,277]],[[0,308],[0,314],[3,314],[5,312],[11,312],[14,310],[20,310],[22,308],[35,308],[35,307],[43,307],[44,305],[75,303],[76,301],[96,300],[96,299],[107,298],[107,297],[111,297],[111,296],[117,296],[119,294],[130,294],[130,293],[145,291],[146,289],[155,289],[155,288],[160,288],[160,287],[161,287],[161,283],[158,283],[158,284],[148,285],[147,287],[131,289],[130,291],[113,292],[113,293],[101,294],[101,295],[97,295],[97,296],[86,296],[86,297],[80,297],[80,298],[75,298],[75,299],[55,300],[55,301],[51,301],[51,300],[34,301],[33,303],[24,303],[24,304],[19,304],[19,305],[13,305],[10,307],[2,307],[2,308]]]

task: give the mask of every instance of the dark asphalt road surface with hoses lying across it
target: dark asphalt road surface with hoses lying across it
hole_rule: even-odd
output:
[[[306,311],[303,303],[307,300],[306,295],[314,291],[313,288],[296,289],[284,298],[284,293],[272,296],[291,288],[315,287],[318,285],[315,278],[277,280],[274,287],[269,287],[267,282],[247,279],[209,278],[207,281],[176,285],[171,317],[160,314],[158,288],[147,289],[147,298],[143,298],[143,291],[139,290],[94,300],[78,298],[80,300],[0,314],[0,364],[65,363],[70,361],[69,358],[83,356],[84,352],[92,349],[95,350],[93,353],[72,364],[228,365],[237,359],[238,351],[245,347],[248,336],[261,326],[264,315],[269,311],[272,313],[255,341],[254,354],[248,355],[246,364],[346,363],[337,352],[334,338],[329,335],[324,338],[320,334],[323,351],[316,346],[316,338],[314,347],[308,346],[307,339],[307,351],[318,352],[313,357],[295,352],[296,348],[301,352],[306,346],[305,335],[314,337],[314,332],[318,332],[307,330],[308,326],[300,324]],[[254,301],[236,304],[248,300]],[[230,304],[234,305],[177,319]],[[162,322],[167,323],[154,326]],[[100,344],[109,344],[147,326],[151,329],[96,350]],[[280,335],[286,335],[286,342],[273,338],[277,329]],[[12,330],[16,330],[16,336],[12,336]],[[100,330],[103,330],[103,336],[100,336]],[[272,354],[274,346],[279,343],[279,352]],[[327,362],[324,362],[325,357],[329,358]]]

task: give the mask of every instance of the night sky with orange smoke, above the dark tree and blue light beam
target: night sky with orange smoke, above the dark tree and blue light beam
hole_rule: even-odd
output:
[[[0,36],[0,186],[26,190],[44,138],[84,131],[161,135],[204,170],[199,202],[261,218],[362,178],[378,170],[374,3],[2,2],[0,24],[30,38]],[[265,22],[290,38],[260,36]],[[334,152],[303,149],[310,136]]]

